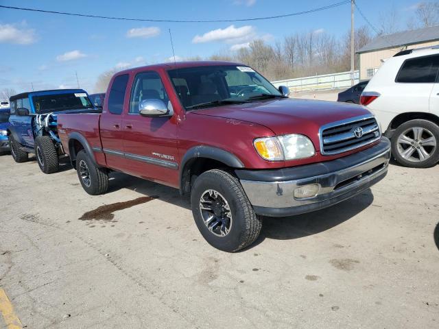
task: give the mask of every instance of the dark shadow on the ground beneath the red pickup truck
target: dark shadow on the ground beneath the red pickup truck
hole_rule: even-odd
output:
[[[111,173],[110,190],[108,192],[118,191],[121,188],[128,188],[147,196],[154,195],[165,202],[191,210],[189,197],[181,197],[175,188],[163,186],[141,178],[135,178],[123,173]],[[368,189],[345,202],[316,212],[281,218],[264,217],[261,234],[257,241],[249,247],[242,249],[240,252],[251,249],[265,239],[299,239],[304,236],[324,232],[351,219],[359,214],[359,212],[368,208],[368,206],[372,204],[373,199],[372,192]]]

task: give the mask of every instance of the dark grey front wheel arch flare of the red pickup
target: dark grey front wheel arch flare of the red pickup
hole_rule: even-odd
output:
[[[187,150],[180,163],[180,194],[190,193],[191,177],[215,168],[244,168],[235,154],[220,149],[200,145]]]

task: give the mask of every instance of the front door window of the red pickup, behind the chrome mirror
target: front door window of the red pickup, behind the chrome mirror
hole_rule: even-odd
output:
[[[145,99],[161,99],[166,105],[169,101],[162,80],[156,72],[136,75],[131,89],[130,113],[139,113],[139,105]]]

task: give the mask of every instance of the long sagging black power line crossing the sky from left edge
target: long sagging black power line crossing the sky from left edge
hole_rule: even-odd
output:
[[[113,17],[113,16],[97,16],[91,14],[78,14],[74,12],[56,12],[54,10],[42,10],[35,8],[22,8],[22,7],[12,7],[10,5],[0,5],[0,8],[12,9],[12,10],[25,10],[29,12],[43,12],[46,14],[59,14],[59,15],[69,15],[69,16],[80,16],[88,17],[92,19],[114,19],[119,21],[141,21],[141,22],[163,22],[163,23],[224,23],[224,22],[244,22],[244,21],[262,21],[265,19],[281,19],[284,17],[299,16],[303,14],[311,14],[312,12],[320,12],[322,10],[327,10],[331,8],[344,5],[346,3],[351,3],[351,0],[340,1],[337,3],[332,3],[331,5],[325,5],[324,7],[313,8],[310,10],[305,10],[302,12],[293,12],[291,14],[283,14],[278,16],[265,16],[265,17],[252,17],[248,19],[213,19],[213,20],[174,20],[174,19],[134,19],[129,17]]]

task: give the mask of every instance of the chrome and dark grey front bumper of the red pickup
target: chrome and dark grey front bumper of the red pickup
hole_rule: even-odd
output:
[[[389,160],[390,141],[382,137],[377,145],[336,160],[235,172],[257,214],[284,217],[327,208],[365,191],[385,177]],[[308,184],[318,185],[315,195],[294,196],[296,188]]]

